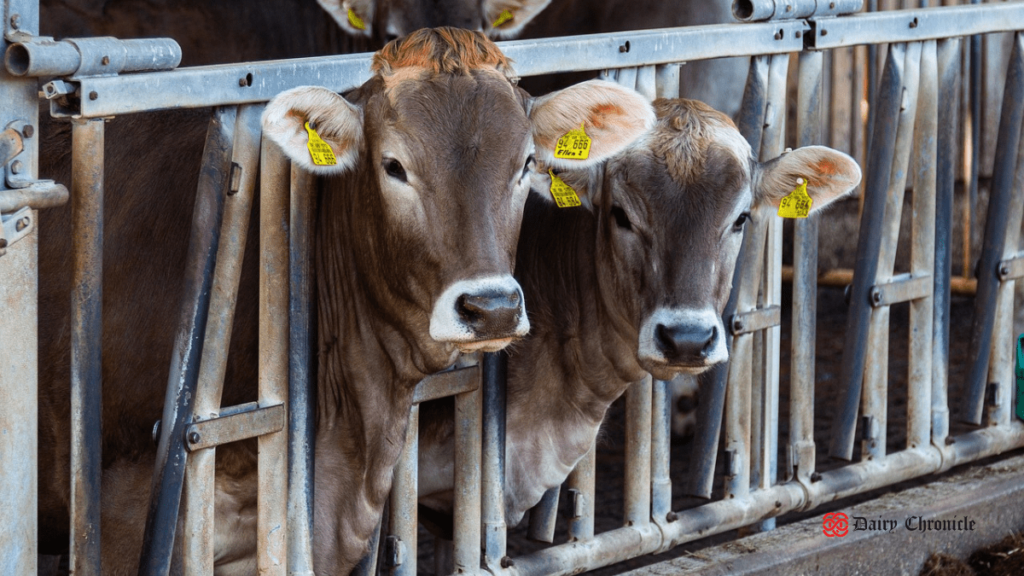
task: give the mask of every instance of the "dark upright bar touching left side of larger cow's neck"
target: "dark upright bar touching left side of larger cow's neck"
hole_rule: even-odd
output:
[[[289,210],[288,573],[313,576],[313,449],[316,340],[313,327],[313,227],[316,178],[292,167]],[[374,557],[376,560],[376,557]]]

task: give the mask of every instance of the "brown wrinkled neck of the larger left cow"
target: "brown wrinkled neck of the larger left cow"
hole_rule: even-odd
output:
[[[362,556],[391,489],[413,390],[424,376],[409,360],[417,352],[402,335],[408,327],[396,325],[407,311],[385,316],[386,287],[369,268],[387,260],[368,212],[374,173],[362,168],[347,180],[322,182],[317,214],[315,498],[325,511],[315,517],[317,573],[351,568]]]

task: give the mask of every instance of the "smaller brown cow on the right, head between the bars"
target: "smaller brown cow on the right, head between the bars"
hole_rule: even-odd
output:
[[[723,114],[686,99],[654,108],[656,127],[608,160],[602,181],[594,171],[558,174],[584,207],[558,208],[536,187],[527,201],[516,278],[532,330],[510,348],[510,525],[565,480],[631,382],[727,359],[720,315],[752,215],[774,217],[798,177],[814,209],[860,181],[845,154],[808,147],[759,163]],[[447,510],[452,422],[439,413],[421,412],[420,494]]]

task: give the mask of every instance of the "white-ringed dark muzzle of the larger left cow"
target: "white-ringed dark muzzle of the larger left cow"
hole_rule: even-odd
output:
[[[434,302],[430,337],[463,352],[499,351],[529,332],[522,289],[511,276],[461,280]]]

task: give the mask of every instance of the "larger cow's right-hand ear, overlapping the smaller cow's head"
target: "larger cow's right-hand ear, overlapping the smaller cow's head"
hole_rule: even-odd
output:
[[[534,126],[537,157],[559,168],[596,165],[633,143],[654,126],[654,109],[636,91],[604,80],[590,80],[534,101],[529,118]],[[586,159],[556,158],[555,145],[581,125],[590,140]]]

